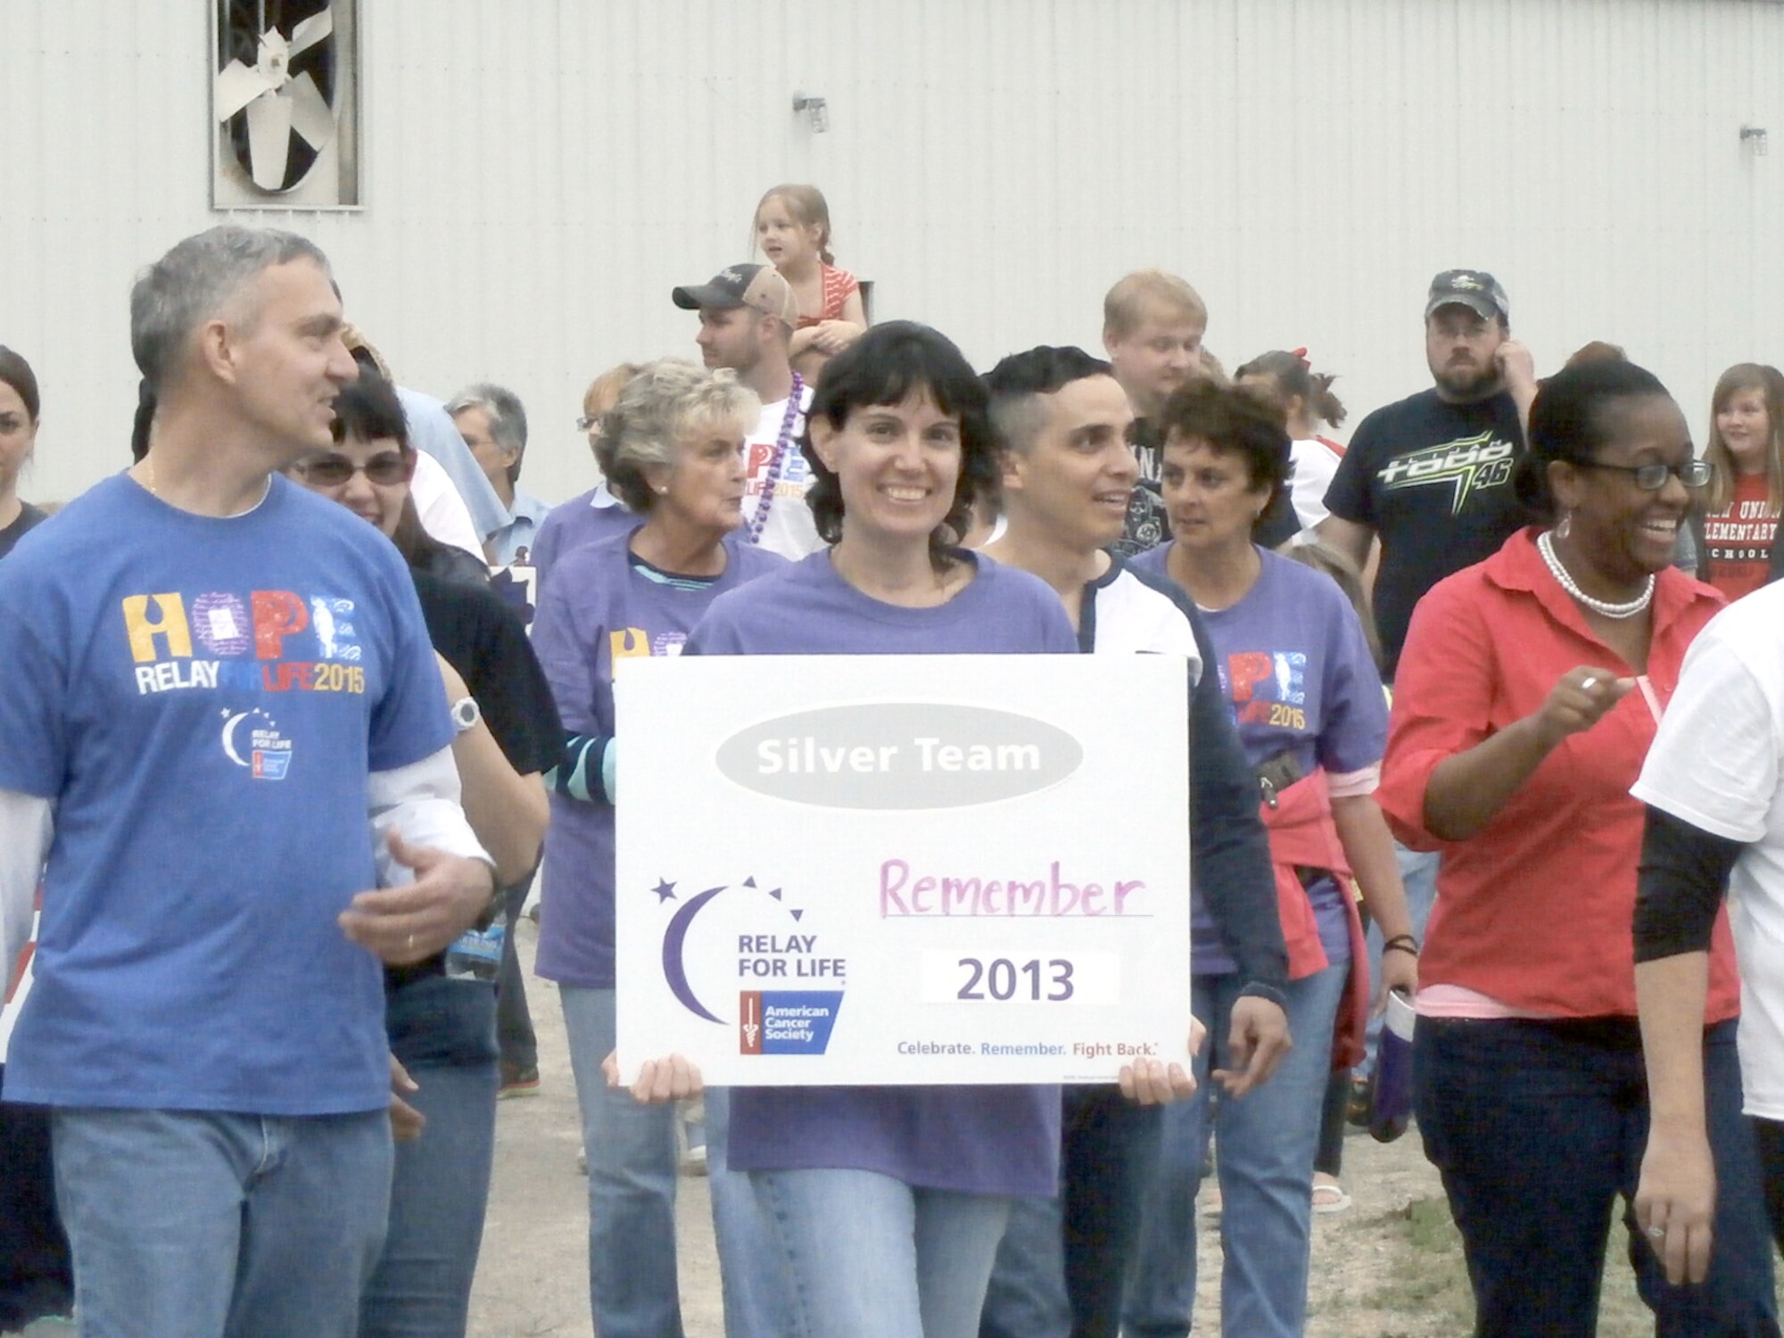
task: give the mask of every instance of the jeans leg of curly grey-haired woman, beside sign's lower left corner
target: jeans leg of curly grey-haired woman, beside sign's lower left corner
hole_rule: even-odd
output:
[[[601,1338],[681,1338],[673,1104],[644,1106],[601,1076],[614,992],[566,985],[564,1029],[589,1156],[589,1309]]]

